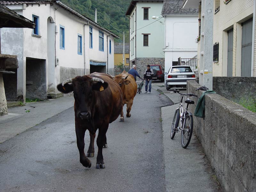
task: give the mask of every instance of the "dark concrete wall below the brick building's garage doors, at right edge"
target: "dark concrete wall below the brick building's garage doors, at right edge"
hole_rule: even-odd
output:
[[[228,100],[239,102],[243,97],[256,98],[255,77],[213,77],[212,80],[213,91]]]

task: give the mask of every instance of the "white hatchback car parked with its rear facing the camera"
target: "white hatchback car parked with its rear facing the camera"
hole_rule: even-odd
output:
[[[188,80],[196,80],[196,74],[190,66],[172,66],[166,75],[166,89],[187,87]]]

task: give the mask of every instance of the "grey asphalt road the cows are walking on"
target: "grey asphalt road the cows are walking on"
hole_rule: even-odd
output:
[[[0,191],[163,192],[165,187],[161,107],[164,95],[137,94],[131,118],[109,125],[105,169],[79,162],[73,107],[1,144]],[[125,108],[124,108],[125,112]],[[89,133],[85,136],[85,152]],[[95,154],[97,147],[95,142]]]

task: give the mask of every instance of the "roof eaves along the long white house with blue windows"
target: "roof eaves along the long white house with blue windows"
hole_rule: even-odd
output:
[[[90,20],[89,18],[83,16],[82,14],[80,14],[79,12],[76,12],[74,9],[71,9],[70,7],[68,7],[67,5],[65,5],[64,3],[61,3],[60,1],[56,1],[56,0],[37,0],[37,1],[0,1],[0,4],[8,4],[8,5],[12,5],[12,4],[43,4],[43,3],[56,3],[58,4],[60,7],[62,7],[63,9],[67,10],[68,12],[71,12],[72,14],[76,15],[77,17],[80,17],[81,19],[85,20],[88,24],[94,25],[97,28],[100,28],[102,31],[105,31],[107,33],[109,33],[110,35],[119,38],[118,35],[114,34],[113,32],[101,27],[99,24],[95,23],[94,21]]]

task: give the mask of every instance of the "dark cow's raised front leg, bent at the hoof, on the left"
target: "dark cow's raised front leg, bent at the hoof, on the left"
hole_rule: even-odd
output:
[[[76,123],[76,143],[80,154],[80,163],[85,167],[90,168],[92,166],[92,163],[84,154],[84,133],[84,127]]]

